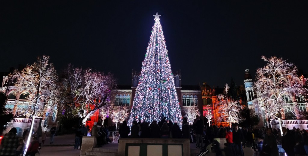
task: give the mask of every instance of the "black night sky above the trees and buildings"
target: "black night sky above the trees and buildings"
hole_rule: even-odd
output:
[[[243,84],[261,55],[289,58],[308,73],[308,1],[1,1],[0,71],[51,56],[112,72],[119,84],[141,70],[156,11],[182,85]]]

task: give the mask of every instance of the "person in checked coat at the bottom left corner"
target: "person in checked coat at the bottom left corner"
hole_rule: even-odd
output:
[[[1,156],[14,156],[15,151],[19,145],[19,139],[17,136],[17,129],[13,127],[9,133],[6,133],[1,141]]]

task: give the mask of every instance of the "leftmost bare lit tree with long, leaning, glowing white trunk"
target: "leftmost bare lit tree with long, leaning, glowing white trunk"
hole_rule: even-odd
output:
[[[38,57],[36,62],[27,65],[21,71],[15,70],[14,74],[17,76],[15,93],[29,94],[26,102],[19,103],[16,114],[32,117],[30,127],[32,134],[34,119],[44,118],[47,109],[52,109],[58,104],[58,75],[53,64],[49,62],[49,56],[46,55]],[[26,149],[30,137],[31,135],[27,139]]]

